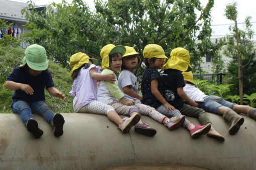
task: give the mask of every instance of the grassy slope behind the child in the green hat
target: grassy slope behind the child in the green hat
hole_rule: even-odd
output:
[[[10,113],[13,90],[5,88],[4,83],[6,77],[12,70],[21,64],[21,59],[24,57],[24,50],[20,48],[7,48],[0,46],[0,113]],[[67,99],[63,100],[58,97],[53,97],[45,90],[46,102],[54,112],[73,112],[73,97],[69,95],[72,87],[72,80],[69,77],[69,70],[63,68],[59,64],[49,61],[49,70],[52,73],[55,87],[63,92]]]

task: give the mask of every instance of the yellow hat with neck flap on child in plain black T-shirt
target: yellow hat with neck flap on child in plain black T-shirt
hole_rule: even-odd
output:
[[[171,57],[164,64],[164,69],[178,69],[180,71],[191,71],[189,51],[182,47],[174,48],[171,52]]]

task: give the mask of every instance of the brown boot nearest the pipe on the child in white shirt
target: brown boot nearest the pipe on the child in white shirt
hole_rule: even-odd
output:
[[[235,134],[240,126],[242,125],[244,118],[234,112],[232,109],[226,110],[223,113],[223,119],[231,123],[231,126],[228,129],[229,134]]]

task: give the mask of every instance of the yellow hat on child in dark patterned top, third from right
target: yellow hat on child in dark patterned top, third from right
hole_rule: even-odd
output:
[[[143,49],[143,57],[144,58],[168,58],[165,56],[165,51],[162,46],[158,44],[148,44]]]

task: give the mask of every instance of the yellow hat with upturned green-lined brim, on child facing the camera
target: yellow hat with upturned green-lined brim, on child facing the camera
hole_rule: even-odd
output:
[[[107,44],[105,46],[102,47],[101,51],[100,51],[100,56],[102,58],[101,61],[101,68],[102,69],[109,69],[109,55],[113,54],[113,53],[121,53],[122,55],[125,53],[126,49],[124,46],[122,45],[114,45],[114,44]]]

